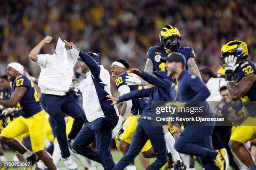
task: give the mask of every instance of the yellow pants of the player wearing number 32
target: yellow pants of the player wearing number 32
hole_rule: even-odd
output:
[[[254,126],[252,126],[254,124]],[[256,117],[247,117],[240,126],[232,127],[230,140],[236,140],[243,144],[256,138]]]

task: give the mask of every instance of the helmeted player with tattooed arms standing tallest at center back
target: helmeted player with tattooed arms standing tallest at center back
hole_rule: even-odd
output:
[[[194,60],[195,52],[192,48],[181,47],[181,34],[177,28],[172,25],[166,25],[161,29],[161,32],[159,33],[159,39],[160,46],[151,47],[148,49],[147,61],[144,71],[151,74],[153,74],[153,72],[156,70],[166,71],[165,62],[161,60],[161,58],[166,58],[169,53],[179,52],[186,58],[186,68],[201,78],[200,72]],[[136,85],[144,86],[147,84],[147,82],[142,79],[136,79],[134,77],[129,77],[128,79],[128,81],[133,82]],[[164,133],[166,144],[169,145],[167,148],[170,148],[172,151],[174,151],[172,153],[174,160],[182,161],[179,157],[179,154],[175,152],[173,148],[175,141],[172,138],[172,134],[169,133],[168,126],[164,126]]]

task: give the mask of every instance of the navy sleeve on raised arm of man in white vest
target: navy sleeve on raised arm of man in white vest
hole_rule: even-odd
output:
[[[89,67],[93,76],[100,77],[100,65],[93,60],[93,58],[88,55],[86,52],[80,50],[79,56],[82,58],[83,62]]]

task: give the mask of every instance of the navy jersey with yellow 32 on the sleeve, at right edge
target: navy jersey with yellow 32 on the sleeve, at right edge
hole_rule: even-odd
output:
[[[244,60],[234,72],[234,82],[237,84],[244,76],[250,74],[256,74],[256,64],[250,60]],[[248,115],[255,116],[256,105],[249,101],[256,101],[256,82],[254,82],[251,89],[241,97],[241,100],[248,111]]]

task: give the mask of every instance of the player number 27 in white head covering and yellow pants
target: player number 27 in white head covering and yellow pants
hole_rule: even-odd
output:
[[[8,80],[13,81],[13,93],[9,100],[0,99],[4,107],[19,108],[20,117],[13,120],[0,134],[0,142],[23,154],[27,161],[32,162],[27,170],[41,159],[50,170],[56,170],[51,156],[44,150],[46,138],[46,112],[42,109],[33,82],[23,75],[23,66],[11,62],[7,67]],[[32,150],[25,148],[15,137],[29,132]],[[36,153],[36,154],[35,154]]]

